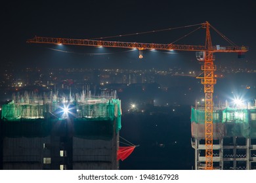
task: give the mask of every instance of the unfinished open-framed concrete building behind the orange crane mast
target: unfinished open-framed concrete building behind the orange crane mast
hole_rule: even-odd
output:
[[[195,169],[205,169],[204,107],[192,107]],[[213,110],[214,169],[256,169],[256,106],[234,105]]]

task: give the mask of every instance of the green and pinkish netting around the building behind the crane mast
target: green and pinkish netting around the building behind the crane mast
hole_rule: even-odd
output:
[[[225,108],[213,110],[213,139],[226,137],[256,137],[256,121],[249,120],[249,114],[255,109]],[[205,112],[196,108],[191,109],[192,137],[205,139]]]

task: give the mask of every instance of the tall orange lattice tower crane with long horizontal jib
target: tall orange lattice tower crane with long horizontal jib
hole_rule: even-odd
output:
[[[137,48],[140,51],[139,58],[143,58],[141,50],[182,50],[201,52],[203,61],[203,76],[198,76],[204,86],[205,93],[205,169],[213,169],[213,86],[216,84],[214,71],[216,66],[213,65],[215,52],[247,52],[247,46],[213,46],[211,43],[210,24],[205,22],[201,24],[206,29],[205,45],[181,45],[181,44],[154,44],[141,42],[119,42],[119,41],[96,41],[89,39],[64,39],[52,37],[34,37],[28,39],[30,43],[47,43],[47,44],[70,44],[80,46],[104,46],[116,48]]]

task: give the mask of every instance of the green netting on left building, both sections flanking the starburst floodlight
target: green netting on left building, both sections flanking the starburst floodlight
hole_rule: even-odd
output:
[[[93,101],[93,100],[92,100]],[[73,133],[77,137],[110,139],[114,132],[121,129],[121,101],[110,99],[95,103],[74,103],[77,111],[71,121],[74,123]],[[1,113],[2,135],[7,137],[45,137],[56,126],[61,134],[65,119],[57,118],[54,111],[58,110],[57,103],[15,104],[3,105]],[[58,124],[58,125],[56,125]],[[114,129],[114,125],[116,129]]]

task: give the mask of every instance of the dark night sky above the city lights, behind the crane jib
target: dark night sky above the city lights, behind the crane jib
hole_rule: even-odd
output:
[[[5,1],[1,4],[1,64],[29,67],[108,67],[148,69],[174,65],[199,67],[194,52],[138,52],[117,48],[28,44],[34,37],[94,39],[201,24],[208,21],[239,46],[249,46],[243,61],[255,67],[255,3],[253,1]],[[196,26],[198,27],[198,26]],[[169,43],[196,27],[106,41]],[[211,29],[213,44],[230,46]],[[175,42],[204,44],[205,29]],[[53,50],[55,49],[55,50]],[[64,50],[60,52],[56,50]],[[103,54],[102,54],[103,53]],[[106,54],[108,53],[108,54]],[[110,53],[110,54],[109,54]],[[235,53],[217,54],[216,64],[238,61]],[[195,62],[195,63],[194,63]]]

